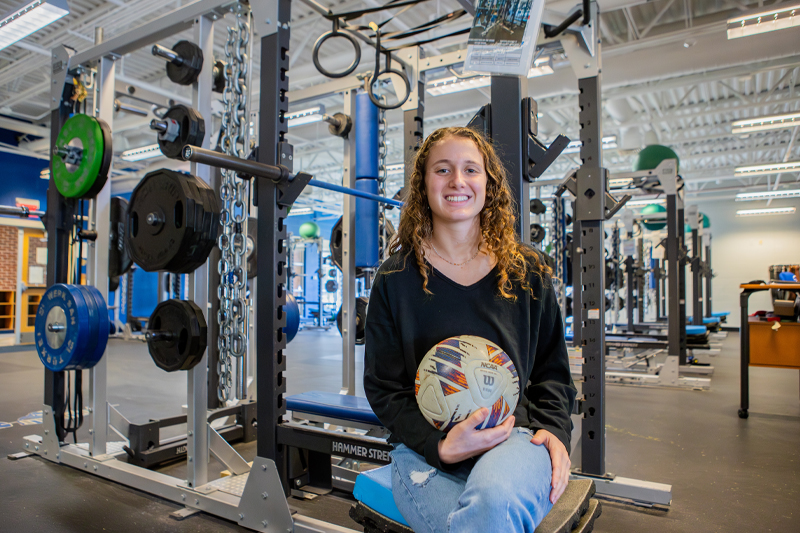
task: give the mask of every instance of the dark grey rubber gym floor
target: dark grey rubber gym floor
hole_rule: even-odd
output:
[[[673,500],[666,511],[604,501],[595,531],[800,530],[798,371],[751,368],[750,418],[741,420],[738,335],[729,333],[722,342],[721,354],[711,359],[710,391],[606,387],[607,469],[671,484]],[[287,350],[289,394],[337,392],[340,346],[335,329],[300,332]],[[108,357],[108,399],[130,420],[180,413],[183,373],[158,370],[143,343],[112,341]],[[0,530],[246,531],[205,514],[173,520],[169,514],[180,506],[172,502],[36,457],[4,459],[21,450],[23,436],[41,431],[18,420],[42,408],[43,372],[32,350],[2,352],[0,363],[0,421],[12,424],[0,428]],[[87,436],[87,428],[81,433]],[[255,455],[252,444],[238,449],[247,460]],[[181,469],[167,472],[180,477]],[[220,466],[209,470],[213,475]],[[290,501],[310,516],[357,529],[347,517],[349,503],[346,495]]]

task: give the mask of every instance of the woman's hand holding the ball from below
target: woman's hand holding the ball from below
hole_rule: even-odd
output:
[[[459,422],[439,441],[439,460],[445,464],[458,463],[491,450],[505,441],[514,429],[514,415],[493,428],[475,429],[486,417],[489,410],[478,409],[469,418]]]

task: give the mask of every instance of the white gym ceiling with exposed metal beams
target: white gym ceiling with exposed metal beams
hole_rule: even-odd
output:
[[[0,114],[25,120],[23,126],[2,120],[0,127],[33,135],[47,130],[49,121],[48,91],[50,50],[59,44],[84,51],[92,46],[95,27],[102,27],[105,39],[146,24],[188,1],[175,0],[68,0],[70,15],[5,50],[0,51]],[[0,11],[7,12],[27,0],[0,0]],[[377,6],[382,0],[322,0],[333,12]],[[568,11],[577,2],[556,0],[548,7]],[[631,168],[636,153],[645,144],[658,142],[672,147],[680,156],[681,173],[688,183],[690,197],[704,200],[727,198],[742,188],[775,186],[775,176],[734,178],[733,168],[800,159],[800,142],[795,130],[777,130],[751,134],[731,134],[731,122],[742,118],[772,115],[800,109],[800,28],[728,41],[725,21],[758,8],[764,2],[747,0],[600,0],[600,36],[602,40],[602,94],[604,100],[604,135],[616,135],[619,148],[604,152],[604,165],[611,172]],[[459,9],[458,0],[430,0],[397,15],[387,25],[402,30]],[[355,24],[382,21],[388,12],[368,15]],[[426,39],[468,27],[470,17],[450,26],[418,36]],[[225,21],[217,23],[217,56],[223,57]],[[292,38],[289,72],[290,90],[325,83],[312,61],[311,49],[316,38],[330,28],[330,23],[302,4],[293,2]],[[161,44],[171,46],[180,39],[191,39],[184,32]],[[349,63],[345,43],[326,45],[326,65]],[[428,56],[466,47],[466,35],[451,37],[426,45]],[[357,73],[371,69],[372,53],[362,50]],[[577,81],[562,50],[554,54],[555,72],[531,78],[529,90],[539,105],[540,134],[552,139],[563,133],[578,138]],[[254,61],[252,91],[258,91],[258,57]],[[434,77],[449,75],[432,73]],[[151,55],[149,48],[121,58],[118,79],[136,81],[163,94],[191,97],[191,90],[172,84],[165,75],[164,61]],[[465,124],[488,102],[489,90],[426,97],[425,131],[444,125]],[[252,100],[257,102],[257,97]],[[327,111],[341,108],[341,98],[322,101]],[[141,103],[137,105],[142,105]],[[305,106],[308,103],[304,104]],[[389,122],[388,163],[402,161],[402,115],[387,113]],[[118,113],[112,129],[116,153],[123,149],[154,142],[146,127],[148,120]],[[16,124],[16,126],[15,126]],[[212,125],[213,126],[213,125]],[[207,131],[214,128],[207,127]],[[342,141],[327,132],[326,124],[292,128],[290,141],[295,145],[295,170],[312,173],[319,179],[341,182]],[[25,142],[24,150],[45,154],[47,143]],[[6,147],[7,148],[7,147]],[[144,170],[174,165],[164,159],[139,164],[115,162],[119,187],[130,187]],[[541,178],[563,177],[577,166],[576,156],[564,155]],[[119,169],[127,171],[122,173]],[[796,182],[800,173],[780,177],[782,183]],[[387,192],[399,188],[401,176],[390,178]],[[315,189],[304,195],[304,203],[326,204],[327,209],[340,204],[340,196]],[[335,209],[335,207],[334,207]]]

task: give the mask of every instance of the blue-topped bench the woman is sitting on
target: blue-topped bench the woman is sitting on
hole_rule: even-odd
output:
[[[391,465],[364,472],[353,490],[357,502],[350,508],[350,518],[364,527],[364,533],[414,533],[392,496]],[[567,490],[544,517],[535,533],[588,533],[600,516],[602,506],[592,498],[594,481],[570,481]]]

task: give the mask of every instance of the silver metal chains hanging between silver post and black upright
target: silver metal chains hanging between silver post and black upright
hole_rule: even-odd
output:
[[[241,4],[238,4],[241,6]],[[245,158],[247,135],[247,59],[250,42],[249,14],[239,9],[236,26],[228,27],[225,43],[227,66],[224,71],[225,91],[222,93],[222,149],[226,154]],[[217,348],[219,360],[219,386],[217,397],[225,402],[231,398],[233,386],[232,357],[241,357],[247,351],[249,306],[247,301],[247,218],[249,211],[248,181],[236,177],[236,172],[222,171],[220,199],[222,210],[219,221],[222,232],[218,239],[220,260],[217,265],[220,283],[219,335]]]

